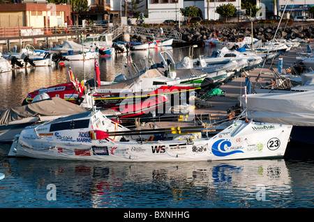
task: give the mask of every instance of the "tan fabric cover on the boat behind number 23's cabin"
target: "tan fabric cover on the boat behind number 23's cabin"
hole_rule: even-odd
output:
[[[15,120],[22,120],[23,118],[38,115],[68,116],[86,111],[87,109],[84,109],[77,104],[67,102],[59,97],[52,97],[52,99],[42,100],[25,106],[16,106],[0,111],[0,126],[7,125],[9,122]]]

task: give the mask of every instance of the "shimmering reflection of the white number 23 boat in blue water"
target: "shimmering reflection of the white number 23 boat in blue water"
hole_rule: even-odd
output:
[[[114,163],[9,159],[1,186],[4,203],[20,189],[28,204],[42,207],[282,207],[292,196],[283,160],[188,163]],[[4,181],[6,182],[6,181]],[[57,201],[45,200],[47,184]],[[257,200],[264,186],[264,201]],[[3,204],[2,201],[2,204]],[[1,205],[1,204],[0,204]]]

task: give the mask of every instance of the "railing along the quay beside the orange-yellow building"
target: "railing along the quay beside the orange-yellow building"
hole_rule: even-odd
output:
[[[0,38],[12,38],[12,37],[27,37],[36,35],[54,35],[54,34],[80,34],[82,31],[84,33],[102,33],[108,29],[107,24],[101,25],[88,25],[88,26],[74,26],[70,25],[67,28],[65,26],[55,26],[55,27],[44,27],[44,28],[34,28],[34,27],[0,27]]]

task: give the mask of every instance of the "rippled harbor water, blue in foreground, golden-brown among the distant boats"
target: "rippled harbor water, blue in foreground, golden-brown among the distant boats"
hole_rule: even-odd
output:
[[[173,50],[174,58],[187,49]],[[185,50],[185,51],[182,51]],[[210,54],[200,47],[194,54]],[[160,49],[150,49],[154,61]],[[137,62],[147,51],[131,54]],[[123,73],[124,56],[99,58],[100,79]],[[63,68],[37,67],[0,74],[0,109],[19,106],[33,90],[94,78],[94,61],[73,61]],[[182,163],[113,163],[8,158],[0,145],[1,208],[311,208],[314,207],[314,159],[306,148],[285,159]],[[126,211],[127,212],[127,211]]]

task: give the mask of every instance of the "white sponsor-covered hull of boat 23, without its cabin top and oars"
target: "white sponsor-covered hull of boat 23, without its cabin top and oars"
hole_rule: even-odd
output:
[[[9,156],[91,161],[215,161],[282,158],[292,126],[237,121],[211,138],[185,137],[142,142],[132,136],[95,140],[84,129],[45,132],[27,127],[15,139]],[[37,131],[38,131],[37,129]],[[180,137],[183,136],[183,137]],[[133,136],[134,137],[134,136]],[[154,134],[151,135],[154,137]],[[151,138],[150,137],[150,138]]]

